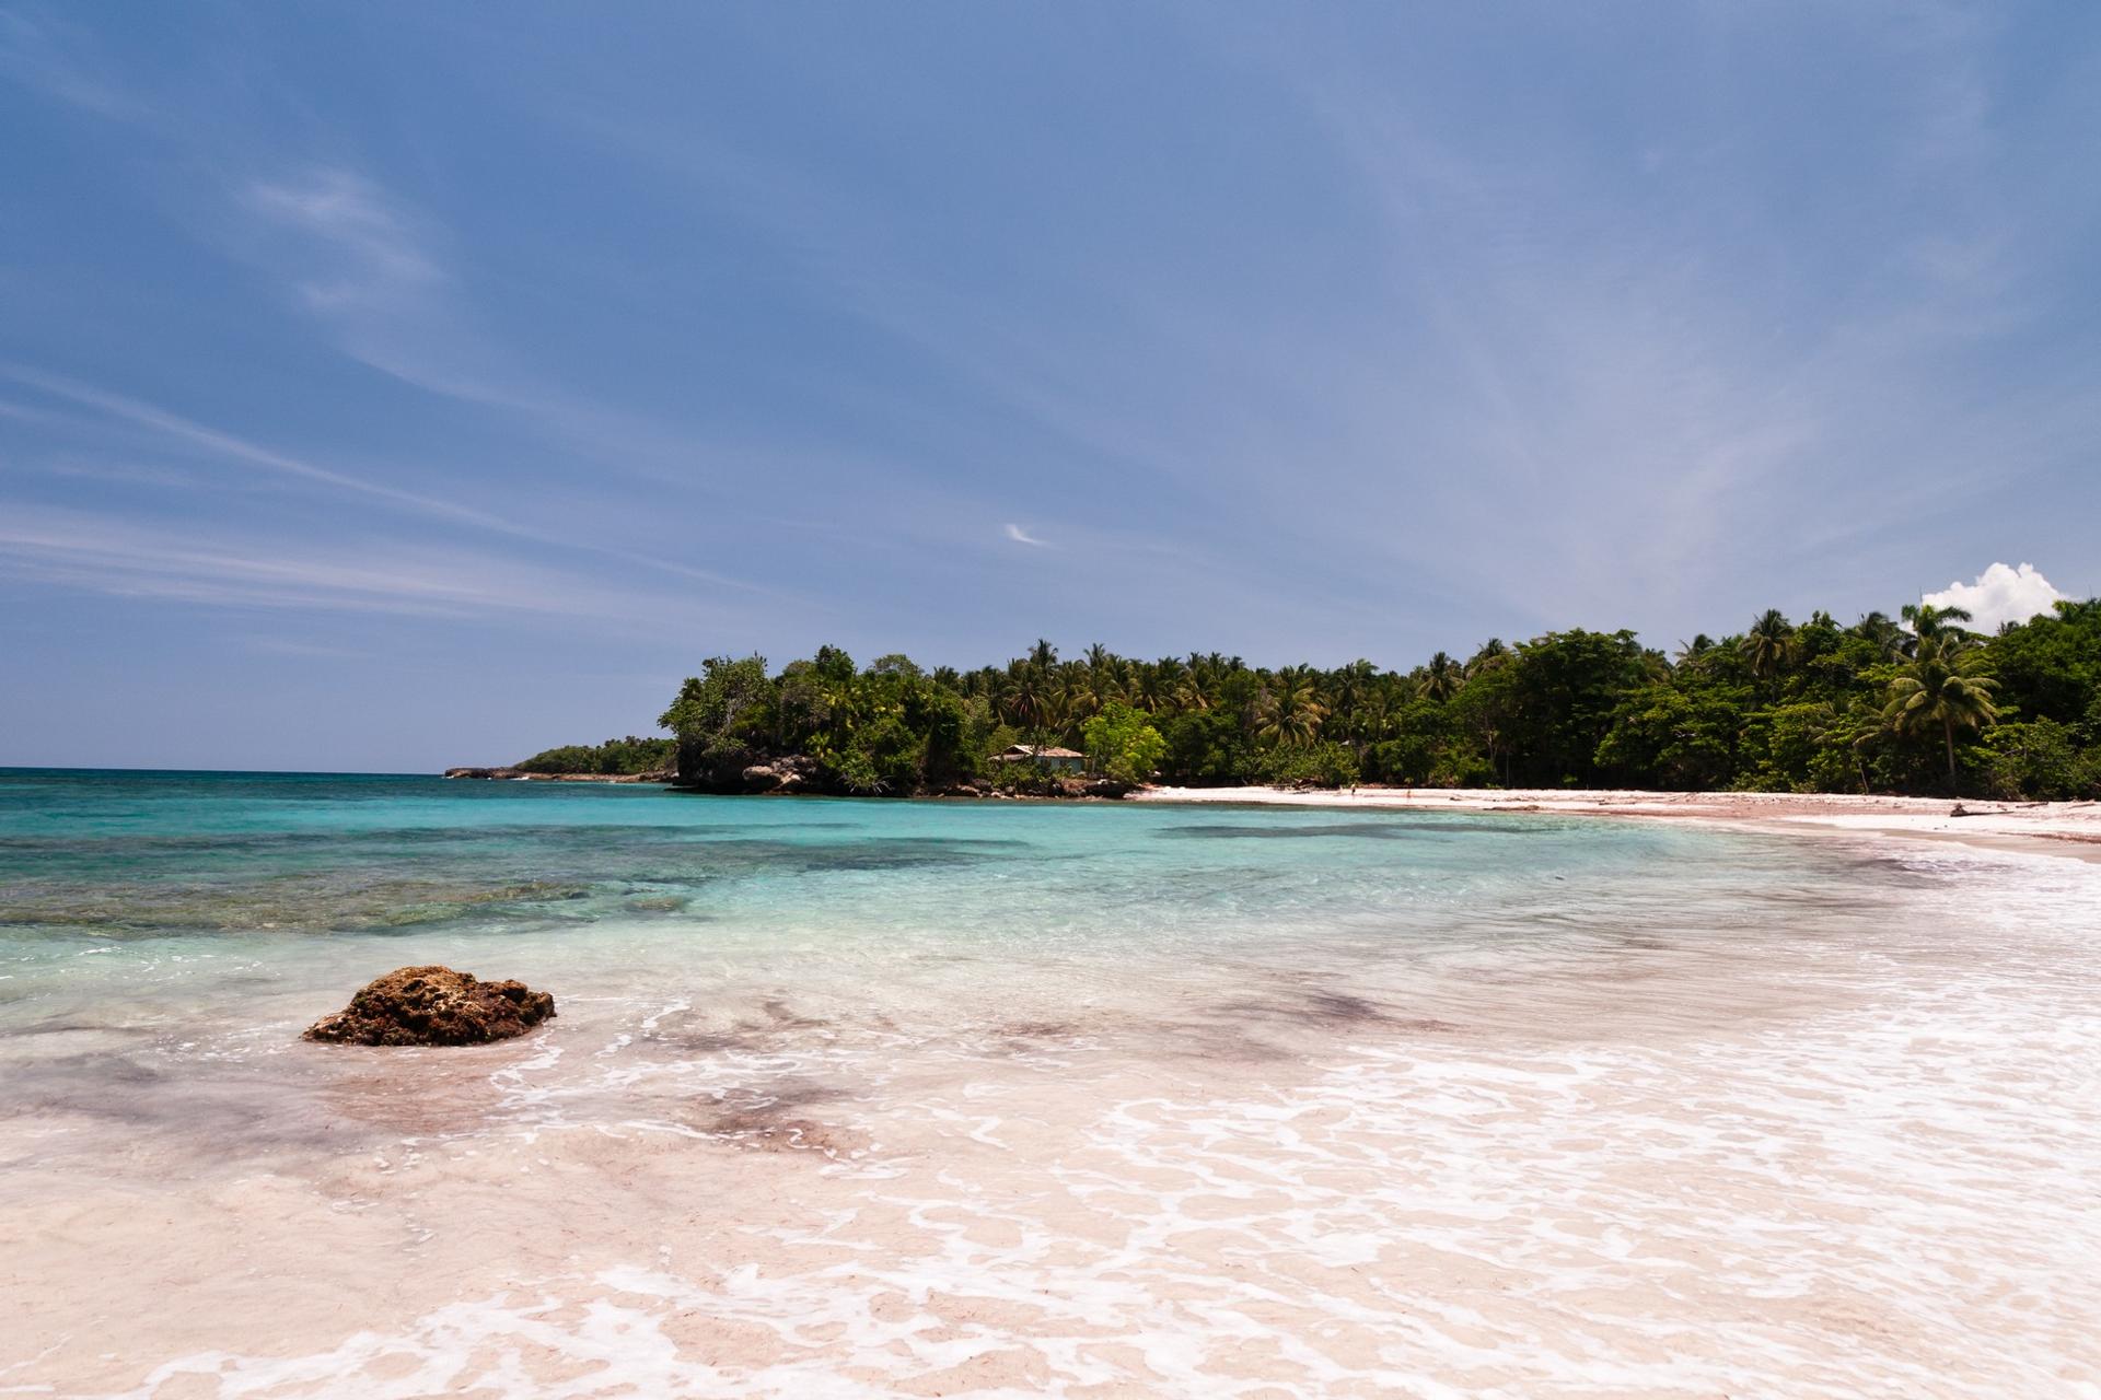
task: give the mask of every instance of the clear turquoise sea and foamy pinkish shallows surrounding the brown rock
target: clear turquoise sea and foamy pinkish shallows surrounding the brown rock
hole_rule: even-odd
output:
[[[0,1394],[2101,1396],[2101,867],[0,772]],[[300,1026],[448,961],[504,1045]]]

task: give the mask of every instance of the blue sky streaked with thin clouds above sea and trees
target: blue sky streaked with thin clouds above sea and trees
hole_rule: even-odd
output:
[[[0,6],[0,762],[2101,590],[2101,6]]]

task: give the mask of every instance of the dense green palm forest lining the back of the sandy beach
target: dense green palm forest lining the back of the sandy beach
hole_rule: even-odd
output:
[[[1853,625],[1767,611],[1670,655],[1632,632],[1574,630],[1410,672],[1103,646],[1061,659],[1048,642],[973,672],[897,655],[857,667],[826,646],[779,674],[761,657],[710,659],[660,724],[681,781],[721,791],[782,772],[843,793],[1046,789],[1038,766],[994,760],[1038,743],[1076,747],[1109,779],[1191,785],[2101,798],[2101,600],[1994,636],[1969,621],[1931,607]]]

